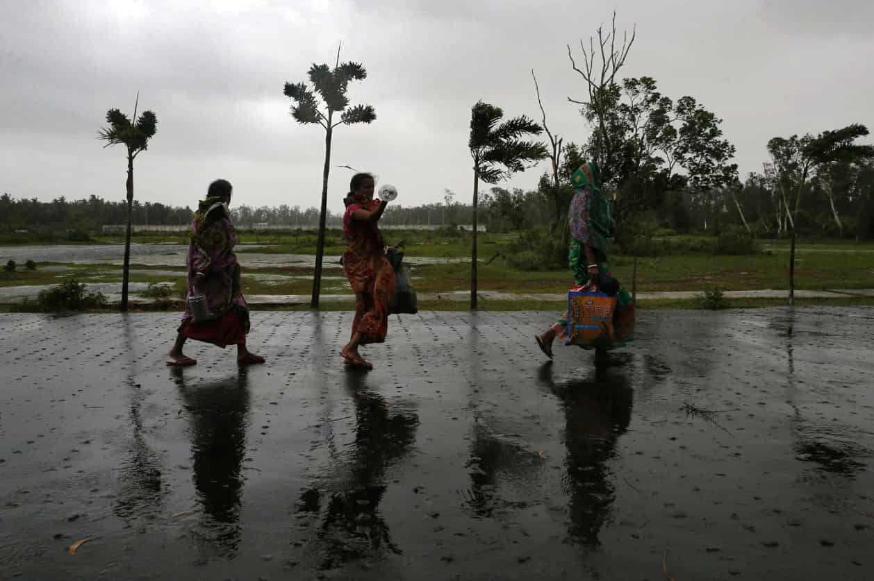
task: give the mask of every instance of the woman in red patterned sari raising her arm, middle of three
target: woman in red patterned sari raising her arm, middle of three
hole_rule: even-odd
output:
[[[385,242],[377,223],[388,202],[373,199],[375,186],[370,174],[356,174],[350,193],[343,200],[343,270],[355,293],[355,320],[350,342],[340,355],[347,365],[372,369],[373,365],[358,353],[359,345],[385,342],[388,330],[388,306],[394,294],[394,269],[385,258]]]

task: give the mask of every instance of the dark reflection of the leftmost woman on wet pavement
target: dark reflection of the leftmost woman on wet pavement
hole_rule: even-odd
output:
[[[193,384],[170,368],[191,432],[194,488],[203,508],[199,536],[231,557],[239,547],[243,460],[250,407],[248,371]]]

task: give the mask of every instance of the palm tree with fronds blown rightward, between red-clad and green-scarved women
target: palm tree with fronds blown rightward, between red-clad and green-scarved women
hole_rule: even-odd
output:
[[[474,159],[474,243],[470,262],[470,308],[476,310],[476,208],[480,180],[498,183],[547,156],[541,142],[525,142],[524,135],[540,135],[543,129],[522,115],[501,123],[501,107],[478,101],[470,112],[468,148]]]

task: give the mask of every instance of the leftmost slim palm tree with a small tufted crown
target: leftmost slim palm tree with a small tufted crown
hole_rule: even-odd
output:
[[[135,122],[128,119],[128,115],[118,109],[109,109],[107,112],[108,128],[102,128],[98,139],[107,142],[104,148],[110,145],[124,145],[128,149],[128,230],[124,238],[124,269],[121,277],[121,312],[128,310],[128,280],[130,279],[130,218],[134,203],[134,159],[149,147],[149,139],[157,133],[158,120],[151,111],[144,111],[140,118],[136,118],[136,107],[140,103],[140,93],[136,93],[134,104]]]

